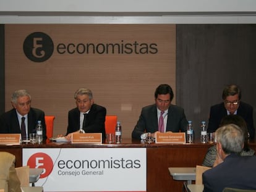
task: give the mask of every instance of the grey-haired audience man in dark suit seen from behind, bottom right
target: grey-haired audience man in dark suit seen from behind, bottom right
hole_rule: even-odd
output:
[[[224,188],[256,190],[256,156],[239,156],[244,146],[244,132],[234,124],[216,130],[217,156],[223,162],[202,175],[204,192]]]

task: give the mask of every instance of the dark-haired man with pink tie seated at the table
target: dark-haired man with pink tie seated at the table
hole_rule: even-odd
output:
[[[171,104],[174,94],[171,86],[161,84],[155,91],[155,104],[142,108],[137,125],[132,131],[132,138],[143,138],[143,133],[156,131],[185,132],[187,119],[184,109]],[[160,130],[160,117],[163,117],[163,130]]]

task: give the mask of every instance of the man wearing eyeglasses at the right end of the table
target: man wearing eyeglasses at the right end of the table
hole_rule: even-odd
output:
[[[249,137],[254,138],[253,107],[241,101],[241,90],[237,85],[228,85],[222,94],[223,102],[211,106],[208,132],[215,132],[220,127],[221,119],[229,114],[240,115],[247,123]]]

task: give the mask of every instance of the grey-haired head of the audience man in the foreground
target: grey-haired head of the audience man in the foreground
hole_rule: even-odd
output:
[[[234,124],[224,125],[218,128],[215,134],[217,145],[221,144],[221,148],[226,155],[242,152],[244,132],[240,127]]]

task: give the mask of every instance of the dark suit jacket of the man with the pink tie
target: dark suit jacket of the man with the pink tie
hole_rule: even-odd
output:
[[[166,131],[185,132],[187,129],[187,119],[184,114],[184,109],[178,106],[170,105],[168,109],[168,119]],[[142,133],[155,133],[158,131],[158,119],[156,104],[142,108],[137,125],[132,131],[132,138],[140,139]]]

